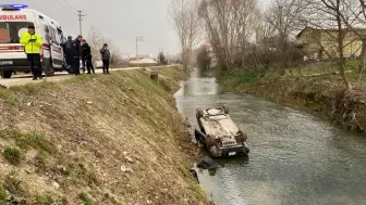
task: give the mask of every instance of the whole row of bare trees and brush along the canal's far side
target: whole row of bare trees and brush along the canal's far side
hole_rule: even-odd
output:
[[[357,57],[359,72],[365,69],[366,31],[361,28],[366,24],[366,0],[273,0],[265,11],[257,0],[171,0],[168,12],[185,68],[193,46],[207,42],[223,71],[260,68],[284,75],[304,62],[295,36],[312,27],[327,34],[328,39],[318,38],[322,40],[318,46],[335,63],[346,89],[353,88],[345,71],[345,48],[353,41],[347,39],[350,33],[362,41]]]

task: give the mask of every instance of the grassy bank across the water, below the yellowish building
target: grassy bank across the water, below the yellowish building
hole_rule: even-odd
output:
[[[334,63],[315,63],[276,73],[217,72],[224,89],[246,92],[296,108],[314,111],[346,129],[363,131],[366,128],[366,82],[359,82],[357,62],[346,64],[347,76],[354,91],[344,90]]]

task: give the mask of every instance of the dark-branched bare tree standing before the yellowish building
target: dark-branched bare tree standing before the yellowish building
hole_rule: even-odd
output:
[[[352,34],[352,25],[356,22],[354,4],[357,0],[307,0],[310,4],[308,11],[309,23],[321,29],[319,46],[330,60],[337,62],[341,77],[346,89],[352,85],[345,73],[345,48],[357,38]]]

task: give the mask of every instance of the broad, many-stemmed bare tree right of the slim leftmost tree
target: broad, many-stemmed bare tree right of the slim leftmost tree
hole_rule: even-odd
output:
[[[258,14],[256,0],[202,0],[199,15],[216,59],[223,69],[244,64]]]

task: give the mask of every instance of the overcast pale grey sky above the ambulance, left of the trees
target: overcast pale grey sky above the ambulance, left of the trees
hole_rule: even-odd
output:
[[[261,8],[270,0],[258,0]],[[139,53],[156,54],[159,48],[179,52],[178,36],[169,21],[170,0],[1,0],[1,3],[23,3],[59,22],[64,34],[78,34],[76,10],[87,16],[83,21],[86,37],[91,26],[118,46],[122,53],[135,53],[135,37],[144,37]]]

